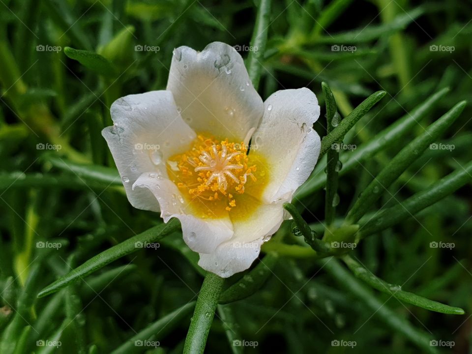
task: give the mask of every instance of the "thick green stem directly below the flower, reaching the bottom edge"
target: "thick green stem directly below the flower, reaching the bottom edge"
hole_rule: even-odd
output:
[[[200,354],[205,351],[208,333],[213,322],[223,283],[224,279],[220,276],[210,272],[207,273],[198,294],[195,311],[185,339],[183,354]]]

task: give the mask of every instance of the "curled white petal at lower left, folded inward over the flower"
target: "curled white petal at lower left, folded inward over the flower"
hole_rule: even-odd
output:
[[[152,192],[159,202],[161,217],[165,222],[172,217],[180,220],[183,239],[195,252],[213,252],[219,244],[233,236],[229,216],[220,219],[193,216],[177,186],[167,178],[145,173],[136,180],[133,189]]]

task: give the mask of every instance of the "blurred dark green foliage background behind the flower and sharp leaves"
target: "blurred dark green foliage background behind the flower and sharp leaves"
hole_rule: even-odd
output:
[[[178,233],[56,295],[36,295],[72,267],[161,223],[158,214],[126,200],[100,134],[112,124],[110,105],[123,95],[165,89],[178,46],[202,50],[222,41],[246,58],[254,50],[257,3],[0,1],[0,353],[15,347],[15,353],[111,353],[196,299],[203,277]],[[259,92],[265,99],[278,89],[312,89],[322,107],[320,136],[326,135],[322,81],[342,117],[374,91],[387,92],[344,140],[358,147],[450,89],[402,139],[340,177],[339,218],[401,148],[471,98],[471,38],[470,0],[273,1]],[[470,162],[471,114],[466,107],[437,142],[450,148],[427,149],[372,211]],[[322,182],[295,202],[323,232],[324,165],[318,169]],[[460,306],[465,315],[429,312],[364,284],[365,293],[356,291],[341,263],[288,255],[256,294],[218,308],[207,353],[472,353],[471,195],[469,181],[353,251],[385,281]],[[293,243],[290,230],[286,222],[278,236]],[[181,353],[192,310],[149,337],[159,341],[156,348],[123,353]],[[41,346],[41,340],[61,345]],[[439,345],[418,344],[429,340]]]

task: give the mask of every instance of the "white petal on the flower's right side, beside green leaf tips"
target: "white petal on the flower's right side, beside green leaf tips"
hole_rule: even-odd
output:
[[[320,116],[320,106],[306,88],[277,91],[264,105],[251,146],[268,164],[269,182],[262,199],[266,203],[291,200],[318,160],[321,142],[313,123]]]

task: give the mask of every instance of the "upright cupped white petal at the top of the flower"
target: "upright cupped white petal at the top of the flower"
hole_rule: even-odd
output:
[[[195,131],[220,139],[243,141],[258,126],[264,111],[241,56],[221,42],[208,44],[202,52],[177,48],[167,89]]]

